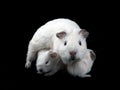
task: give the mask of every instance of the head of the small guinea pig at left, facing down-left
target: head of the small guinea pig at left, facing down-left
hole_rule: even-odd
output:
[[[39,74],[47,74],[52,72],[57,62],[57,53],[52,51],[44,52],[38,55],[36,68]]]

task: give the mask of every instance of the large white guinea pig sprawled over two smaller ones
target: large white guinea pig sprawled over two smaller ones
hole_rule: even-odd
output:
[[[25,67],[29,68],[37,52],[46,48],[57,52],[65,64],[81,59],[87,49],[88,34],[69,19],[60,18],[47,22],[35,32],[29,42]]]

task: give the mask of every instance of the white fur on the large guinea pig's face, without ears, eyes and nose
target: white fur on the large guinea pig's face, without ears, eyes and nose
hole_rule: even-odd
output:
[[[67,42],[66,46],[63,44],[65,41]],[[79,45],[79,41],[81,42],[81,45]],[[61,42],[62,43],[59,43],[57,52],[65,64],[75,61],[70,59],[71,51],[77,52],[75,55],[76,60],[82,59],[87,51],[86,38],[82,37],[82,35],[79,35],[77,31],[67,35],[67,37],[65,37]]]

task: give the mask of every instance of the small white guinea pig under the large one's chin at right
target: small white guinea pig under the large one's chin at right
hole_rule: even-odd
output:
[[[88,49],[82,60],[67,65],[67,71],[73,76],[91,77],[88,72],[91,71],[95,59],[96,55],[93,50]]]

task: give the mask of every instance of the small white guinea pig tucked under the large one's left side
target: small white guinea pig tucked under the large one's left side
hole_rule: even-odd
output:
[[[38,52],[36,68],[39,74],[50,76],[64,67],[57,53],[51,50],[42,50]]]

